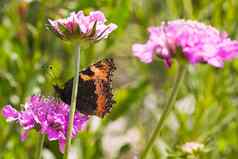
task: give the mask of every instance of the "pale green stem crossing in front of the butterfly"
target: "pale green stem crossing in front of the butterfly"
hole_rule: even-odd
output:
[[[74,81],[73,81],[69,124],[68,124],[67,138],[66,138],[66,144],[65,144],[65,149],[64,149],[64,159],[68,159],[69,149],[70,149],[70,145],[71,145],[74,113],[75,113],[76,102],[77,102],[77,93],[78,93],[79,71],[80,71],[80,46],[78,45],[76,47],[75,77],[74,77]]]

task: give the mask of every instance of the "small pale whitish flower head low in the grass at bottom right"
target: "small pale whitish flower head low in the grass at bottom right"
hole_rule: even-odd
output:
[[[204,149],[204,145],[198,142],[187,142],[181,146],[181,150],[188,154],[193,154]]]

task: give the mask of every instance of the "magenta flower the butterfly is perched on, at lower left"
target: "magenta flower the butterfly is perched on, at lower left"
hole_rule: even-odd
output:
[[[17,111],[7,105],[2,110],[7,121],[17,121],[24,129],[21,139],[27,137],[31,129],[46,134],[50,141],[58,140],[61,152],[64,152],[67,125],[69,118],[69,105],[53,97],[32,96],[25,104],[23,111]],[[72,137],[87,123],[88,116],[75,113]]]

